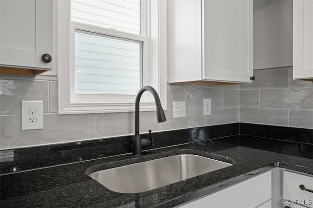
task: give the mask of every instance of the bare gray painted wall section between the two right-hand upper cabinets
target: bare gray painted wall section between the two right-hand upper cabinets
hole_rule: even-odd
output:
[[[292,0],[253,1],[253,69],[292,66]]]

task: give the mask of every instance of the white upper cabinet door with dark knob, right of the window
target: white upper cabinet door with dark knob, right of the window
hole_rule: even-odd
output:
[[[202,0],[204,80],[251,82],[252,3],[252,0]]]

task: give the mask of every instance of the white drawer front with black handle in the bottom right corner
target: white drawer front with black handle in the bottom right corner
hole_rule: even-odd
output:
[[[301,190],[300,185],[313,190],[313,177],[284,171],[284,199],[300,200],[300,203],[306,203],[303,205],[313,208],[313,193]]]

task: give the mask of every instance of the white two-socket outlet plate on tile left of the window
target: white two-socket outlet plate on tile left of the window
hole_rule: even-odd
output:
[[[29,114],[29,109],[36,109],[35,114]],[[36,117],[36,122],[29,122],[30,117]],[[22,101],[22,130],[43,129],[43,101]]]

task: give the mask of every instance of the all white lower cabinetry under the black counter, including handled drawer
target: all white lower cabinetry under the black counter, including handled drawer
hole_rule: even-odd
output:
[[[179,208],[313,208],[312,190],[312,175],[275,167]]]

